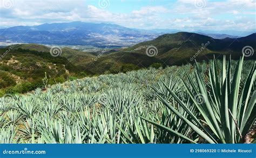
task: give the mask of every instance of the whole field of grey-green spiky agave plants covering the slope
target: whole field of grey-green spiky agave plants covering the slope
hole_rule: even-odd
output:
[[[211,60],[0,98],[0,143],[250,143],[255,61]]]

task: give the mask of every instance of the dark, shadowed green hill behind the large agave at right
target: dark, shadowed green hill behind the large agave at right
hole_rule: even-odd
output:
[[[139,43],[128,49],[126,52],[146,53],[146,48],[154,46],[157,48],[157,59],[163,61],[167,65],[180,65],[189,61],[211,59],[212,54],[228,54],[238,59],[242,55],[242,48],[251,46],[256,49],[256,35],[232,39],[213,39],[208,36],[199,35],[197,33],[178,32],[174,34],[166,34],[159,36],[154,40]],[[196,56],[196,57],[194,57]],[[250,56],[248,59],[255,59],[256,55]]]

